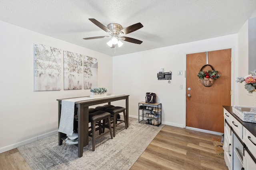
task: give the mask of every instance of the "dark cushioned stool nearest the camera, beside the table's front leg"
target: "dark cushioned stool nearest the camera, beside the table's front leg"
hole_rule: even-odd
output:
[[[96,122],[100,125],[101,121],[105,122],[104,120],[108,119],[108,131],[105,131],[104,133],[101,133],[101,128],[100,130],[100,135],[96,136]],[[95,150],[95,140],[102,137],[103,135],[106,135],[108,132],[110,132],[111,139],[113,139],[113,134],[112,134],[112,128],[111,128],[111,121],[110,121],[110,113],[106,111],[95,111],[94,113],[89,114],[89,122],[91,123],[92,130],[89,132],[89,136],[92,137],[92,151]],[[103,123],[105,124],[105,123]]]

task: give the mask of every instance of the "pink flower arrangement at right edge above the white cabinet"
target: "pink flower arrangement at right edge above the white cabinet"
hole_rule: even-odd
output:
[[[244,88],[249,92],[254,92],[256,89],[256,70],[250,71],[249,74],[244,77],[237,77],[236,82],[244,83]]]

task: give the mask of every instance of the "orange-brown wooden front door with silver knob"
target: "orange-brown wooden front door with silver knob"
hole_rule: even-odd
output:
[[[224,133],[222,106],[231,105],[231,49],[208,52],[208,64],[221,74],[210,87],[198,81],[205,64],[205,52],[186,56],[186,127]]]

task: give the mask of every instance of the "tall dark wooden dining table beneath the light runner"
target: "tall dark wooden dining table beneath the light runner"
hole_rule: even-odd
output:
[[[90,96],[84,96],[90,98]],[[79,98],[84,97],[75,97],[77,98],[77,102],[75,102],[75,107],[77,109],[78,115],[78,157],[83,156],[83,148],[88,145],[88,119],[89,119],[89,106],[98,105],[111,102],[118,101],[118,100],[125,100],[125,107],[126,107],[126,120],[127,120],[127,127],[129,127],[129,95],[115,95],[115,96],[104,96],[102,98],[91,98],[88,100],[79,101]],[[68,100],[74,98],[65,98],[65,99],[57,99],[58,101],[58,127],[60,126],[60,116],[61,116],[61,106],[62,100]],[[58,132],[58,141],[59,145],[62,145],[63,140],[66,139],[66,134]]]

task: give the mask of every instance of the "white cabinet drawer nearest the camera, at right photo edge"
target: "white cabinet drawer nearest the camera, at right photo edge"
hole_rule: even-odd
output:
[[[244,128],[243,141],[253,156],[256,158],[256,137]]]

